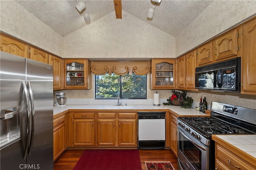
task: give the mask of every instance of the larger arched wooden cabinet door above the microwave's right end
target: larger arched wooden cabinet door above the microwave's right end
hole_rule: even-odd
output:
[[[215,60],[226,57],[238,56],[238,29],[224,33],[214,40],[214,57]]]

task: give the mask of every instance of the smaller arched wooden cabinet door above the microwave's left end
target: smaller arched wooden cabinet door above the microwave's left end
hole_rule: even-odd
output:
[[[198,47],[196,53],[197,66],[212,62],[212,41]]]

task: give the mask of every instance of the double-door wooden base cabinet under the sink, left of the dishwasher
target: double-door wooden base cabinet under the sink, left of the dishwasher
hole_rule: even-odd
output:
[[[99,112],[97,120],[97,145],[115,147],[136,147],[136,115],[136,112]]]

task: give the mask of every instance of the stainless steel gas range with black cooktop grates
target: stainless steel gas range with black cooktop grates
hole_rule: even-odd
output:
[[[178,170],[214,170],[213,134],[256,134],[256,110],[212,102],[210,117],[178,118]]]

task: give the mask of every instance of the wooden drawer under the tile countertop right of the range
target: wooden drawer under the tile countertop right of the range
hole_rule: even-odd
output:
[[[229,169],[236,169],[235,166],[238,166],[238,169],[240,170],[253,170],[256,168],[246,160],[242,159],[218,143],[216,143],[216,157],[224,162],[224,164],[226,164]]]

